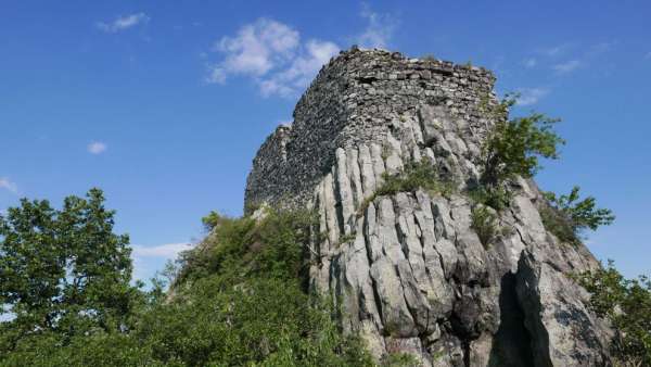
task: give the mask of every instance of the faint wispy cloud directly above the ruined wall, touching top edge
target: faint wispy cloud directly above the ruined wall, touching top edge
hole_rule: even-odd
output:
[[[363,2],[359,14],[368,22],[366,29],[355,37],[355,41],[361,48],[385,49],[393,37],[398,21],[391,14],[380,14],[371,10],[371,7]]]

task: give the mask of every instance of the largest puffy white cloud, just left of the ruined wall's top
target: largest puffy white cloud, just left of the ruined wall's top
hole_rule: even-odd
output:
[[[292,97],[302,91],[340,48],[310,39],[280,22],[260,18],[240,28],[234,37],[222,37],[214,51],[224,60],[208,67],[206,81],[225,84],[230,76],[252,78],[265,97]]]

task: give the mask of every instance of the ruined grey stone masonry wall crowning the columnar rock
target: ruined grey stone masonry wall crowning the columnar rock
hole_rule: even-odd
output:
[[[464,132],[482,135],[489,123],[481,106],[495,101],[494,84],[483,67],[356,47],[342,51],[299,99],[292,125],[263,143],[247,178],[245,207],[305,204],[337,148],[382,144],[401,122],[417,121],[423,105],[444,106]]]

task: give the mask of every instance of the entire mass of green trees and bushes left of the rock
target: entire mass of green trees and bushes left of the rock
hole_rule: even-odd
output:
[[[128,238],[103,195],[62,210],[23,201],[0,218],[2,366],[365,366],[330,302],[306,290],[309,213],[214,214],[171,291],[129,286]]]

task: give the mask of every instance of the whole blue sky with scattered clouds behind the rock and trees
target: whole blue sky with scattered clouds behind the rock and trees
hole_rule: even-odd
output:
[[[241,214],[251,161],[321,64],[353,43],[492,68],[518,110],[563,118],[573,185],[617,220],[588,240],[650,274],[648,1],[0,0],[0,210],[102,188],[148,278]]]

